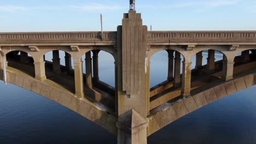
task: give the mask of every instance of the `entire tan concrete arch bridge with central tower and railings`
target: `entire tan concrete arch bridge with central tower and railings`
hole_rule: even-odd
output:
[[[162,50],[168,53],[167,79],[150,88],[150,60]],[[50,51],[53,62],[44,58]],[[65,52],[65,66],[59,51]],[[115,87],[98,79],[100,51],[114,58]],[[147,143],[147,136],[179,117],[256,82],[256,31],[152,32],[135,10],[124,14],[117,32],[102,35],[0,33],[0,52],[1,73],[8,65],[9,83],[101,125],[118,136],[118,143]],[[203,52],[208,53],[206,65]],[[215,61],[216,54],[223,59]]]

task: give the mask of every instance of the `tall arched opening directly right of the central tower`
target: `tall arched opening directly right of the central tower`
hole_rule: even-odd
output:
[[[185,58],[178,51],[161,50],[154,53],[149,62],[149,110],[153,110],[181,96]]]

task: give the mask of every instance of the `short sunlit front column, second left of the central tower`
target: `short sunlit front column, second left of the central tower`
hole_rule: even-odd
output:
[[[35,74],[35,79],[39,81],[46,80],[45,62],[43,61],[43,58],[40,58],[38,61],[34,61],[34,74]]]

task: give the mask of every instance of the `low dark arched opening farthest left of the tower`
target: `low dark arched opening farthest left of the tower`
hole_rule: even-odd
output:
[[[8,67],[21,70],[22,72],[35,77],[34,59],[29,53],[14,50],[6,53],[5,56]]]

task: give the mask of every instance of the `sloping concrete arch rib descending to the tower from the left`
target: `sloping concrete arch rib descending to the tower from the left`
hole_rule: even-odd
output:
[[[3,80],[2,73],[3,70],[0,69],[1,80]],[[48,82],[48,80],[38,81],[33,79],[33,77],[10,67],[7,69],[7,75],[7,81],[9,83],[13,83],[14,85],[40,94],[45,98],[56,101],[56,103],[59,103],[68,109],[79,113],[79,115],[82,115],[90,121],[95,122],[101,127],[107,129],[110,131],[110,133],[117,135],[117,127],[115,125],[117,118],[108,114],[107,112],[104,112],[91,101],[79,98],[70,92],[68,93],[65,91],[65,89],[55,87],[53,82]]]

